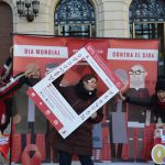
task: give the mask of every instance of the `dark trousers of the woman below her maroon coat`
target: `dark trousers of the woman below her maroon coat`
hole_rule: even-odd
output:
[[[72,165],[72,156],[66,152],[59,151],[59,165]],[[94,165],[90,156],[78,155],[81,165]]]

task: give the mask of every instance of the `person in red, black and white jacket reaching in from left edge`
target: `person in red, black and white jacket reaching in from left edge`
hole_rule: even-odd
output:
[[[12,57],[9,57],[4,65],[0,68],[0,131],[7,129],[10,117],[12,114],[12,96],[15,90],[22,87],[24,84],[32,86],[30,78],[36,75],[37,68],[29,68],[25,72],[12,77]]]

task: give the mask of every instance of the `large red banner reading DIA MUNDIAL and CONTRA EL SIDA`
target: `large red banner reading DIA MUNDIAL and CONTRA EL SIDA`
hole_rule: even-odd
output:
[[[91,43],[97,53],[106,61],[106,66],[109,67],[123,84],[129,87],[134,84],[130,81],[134,73],[141,75],[141,85],[147,88],[146,96],[150,97],[154,92],[155,80],[157,76],[157,57],[158,57],[158,41],[156,40],[131,40],[131,38],[72,38],[72,37],[55,37],[55,36],[14,36],[14,75],[23,72],[28,65],[37,63],[41,68],[41,78],[44,78],[48,72],[56,68],[75,53],[77,53],[86,44]],[[24,48],[23,48],[24,47]],[[22,51],[29,47],[26,51]],[[45,50],[53,48],[53,56]],[[61,52],[64,48],[65,54]],[[37,56],[33,56],[33,48],[44,50]],[[55,50],[54,50],[55,48]],[[43,56],[44,55],[44,56]],[[133,67],[135,65],[135,67]],[[143,66],[145,70],[138,68]],[[141,67],[141,69],[143,68]],[[139,70],[139,72],[138,72]],[[72,85],[77,82],[81,76],[92,73],[94,69],[85,61],[80,61],[78,65],[74,65],[63,79],[63,85]],[[70,77],[72,75],[72,77]],[[132,76],[132,77],[131,77]],[[136,81],[135,80],[135,81]],[[130,84],[131,82],[131,84]],[[105,82],[99,79],[100,94],[108,90]],[[14,124],[12,162],[21,163],[22,153],[32,142],[37,145],[42,153],[43,163],[56,163],[57,153],[52,151],[46,143],[46,135],[50,131],[50,123],[45,116],[32,103],[25,95],[29,90],[28,86],[23,86],[15,95],[15,109],[21,114],[21,122]],[[116,98],[110,99],[116,100]],[[150,109],[136,107],[134,116],[130,118],[131,110],[134,109],[125,102],[113,105],[108,101],[103,107],[105,118],[100,124],[94,127],[94,154],[92,160],[98,164],[106,164],[113,161],[118,162],[134,162],[150,161],[151,150],[154,138],[154,116]],[[139,111],[140,109],[140,111]],[[33,110],[33,112],[32,112]],[[31,112],[29,112],[31,111]],[[141,112],[141,113],[139,113]],[[140,118],[142,114],[143,118]],[[124,136],[117,133],[113,128],[118,122],[118,129]],[[132,120],[133,119],[133,120]],[[139,121],[139,119],[141,119]],[[31,127],[30,127],[31,125]],[[32,131],[31,131],[32,130]],[[77,157],[73,157],[74,162]]]

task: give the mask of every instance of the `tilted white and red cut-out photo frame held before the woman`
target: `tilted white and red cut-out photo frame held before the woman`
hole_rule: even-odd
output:
[[[77,114],[74,108],[59,94],[53,81],[81,59],[87,61],[96,74],[101,78],[107,86],[107,91],[95,102],[89,105],[80,114]],[[65,61],[61,66],[55,68],[33,88],[28,90],[28,95],[65,139],[111,99],[121,87],[122,82],[107,67],[103,59],[95,52],[95,47],[89,43]]]

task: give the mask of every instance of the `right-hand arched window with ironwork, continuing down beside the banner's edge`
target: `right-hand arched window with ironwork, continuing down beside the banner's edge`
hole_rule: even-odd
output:
[[[133,38],[160,41],[158,73],[165,74],[165,0],[132,0],[130,34]]]

